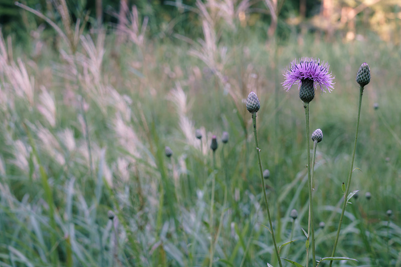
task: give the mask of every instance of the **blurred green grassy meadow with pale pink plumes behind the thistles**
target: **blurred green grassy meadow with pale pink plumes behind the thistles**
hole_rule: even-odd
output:
[[[238,21],[208,19],[196,29],[202,38],[150,38],[143,20],[132,19],[91,32],[64,23],[52,38],[38,29],[24,46],[0,37],[0,266],[278,266],[245,106],[251,91],[261,103],[276,240],[295,240],[280,256],[304,266],[305,115],[297,85],[281,84],[302,56],[328,62],[335,76],[333,91],[316,90],[310,103],[311,132],[323,132],[313,176],[316,259],[333,248],[354,141],[355,75],[367,62],[350,187],[358,197],[346,206],[335,253],[357,261],[333,266],[401,266],[399,45],[373,34],[276,42]]]

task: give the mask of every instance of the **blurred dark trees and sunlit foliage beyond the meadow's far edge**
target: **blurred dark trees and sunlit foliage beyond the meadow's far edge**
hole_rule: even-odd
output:
[[[61,0],[24,0],[22,3],[42,12],[53,21],[61,18],[56,6]],[[99,22],[106,28],[117,27],[136,6],[140,20],[148,18],[148,37],[165,37],[174,34],[190,38],[201,36],[202,17],[200,0],[75,0],[67,1],[73,19],[89,14],[87,29],[96,28]],[[201,2],[202,3],[202,2]],[[236,23],[247,30],[266,32],[268,38],[275,30],[285,39],[289,34],[316,32],[327,39],[352,40],[375,33],[385,41],[400,41],[401,3],[399,0],[206,0],[210,10],[224,11],[224,18],[216,21],[222,27]],[[277,14],[273,14],[277,13]],[[273,14],[273,15],[272,15]],[[213,12],[212,12],[213,15]],[[227,19],[231,17],[231,21]],[[42,26],[41,26],[42,25]],[[53,29],[45,21],[16,6],[11,0],[0,0],[0,26],[5,36],[27,41],[27,32],[43,27]],[[231,27],[235,29],[237,27]],[[260,32],[260,31],[258,31]]]

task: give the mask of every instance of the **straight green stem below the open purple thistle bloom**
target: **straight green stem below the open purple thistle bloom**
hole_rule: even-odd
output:
[[[315,256],[315,231],[313,227],[313,208],[312,208],[312,175],[311,175],[311,165],[310,165],[310,134],[309,134],[309,102],[304,102],[305,118],[306,118],[306,152],[308,157],[308,191],[309,191],[309,219],[308,219],[308,238],[312,237],[312,264],[313,267],[316,266],[316,256]],[[309,235],[310,233],[310,235]],[[309,242],[311,238],[309,238]],[[308,254],[308,250],[307,250]],[[307,255],[306,266],[308,266],[309,255]]]

